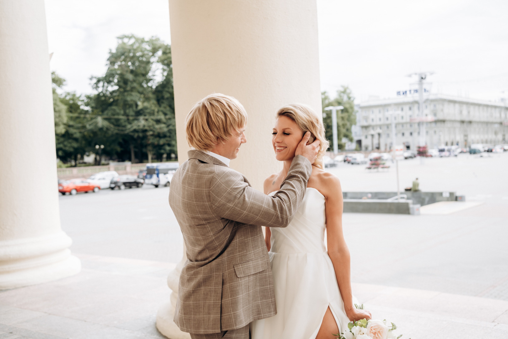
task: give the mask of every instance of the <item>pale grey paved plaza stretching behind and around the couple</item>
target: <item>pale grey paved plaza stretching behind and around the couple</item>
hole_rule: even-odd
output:
[[[395,164],[330,169],[343,191],[396,191]],[[403,338],[508,337],[508,153],[399,162],[401,188],[451,191],[473,206],[440,214],[345,213],[353,292]],[[0,338],[149,338],[182,255],[169,188],[61,196],[80,274],[0,292]],[[446,209],[446,208],[445,208]]]

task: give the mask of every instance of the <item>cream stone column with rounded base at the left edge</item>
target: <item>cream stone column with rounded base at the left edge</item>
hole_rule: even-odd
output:
[[[60,229],[43,0],[0,1],[0,289],[80,271]]]

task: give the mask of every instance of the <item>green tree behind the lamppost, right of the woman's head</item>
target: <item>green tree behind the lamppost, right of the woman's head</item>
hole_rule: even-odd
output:
[[[355,98],[351,93],[351,89],[348,86],[342,86],[341,89],[337,90],[337,94],[333,99],[328,96],[326,91],[323,91],[321,93],[321,103],[323,105],[323,113],[326,113],[326,116],[323,117],[323,123],[325,124],[326,137],[330,140],[331,149],[333,149],[332,115],[331,111],[325,111],[325,107],[344,107],[344,109],[337,112],[338,148],[344,149],[345,144],[342,140],[343,138],[346,138],[349,141],[353,141],[351,127],[356,124]]]

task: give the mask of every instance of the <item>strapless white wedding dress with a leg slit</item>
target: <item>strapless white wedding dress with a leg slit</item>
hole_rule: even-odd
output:
[[[325,197],[307,188],[288,227],[270,230],[277,314],[250,323],[252,339],[314,339],[328,307],[344,332],[349,319],[325,245]]]

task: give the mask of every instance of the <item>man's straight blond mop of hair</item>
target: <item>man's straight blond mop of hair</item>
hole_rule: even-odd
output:
[[[246,124],[247,112],[238,100],[210,94],[194,105],[185,118],[187,142],[196,149],[211,150]]]

